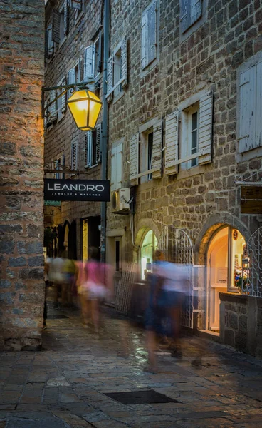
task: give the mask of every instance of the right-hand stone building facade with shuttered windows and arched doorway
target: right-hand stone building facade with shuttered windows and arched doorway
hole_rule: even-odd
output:
[[[127,72],[108,78],[108,178],[115,198],[131,187],[133,202],[129,213],[108,204],[108,260],[137,260],[143,278],[154,248],[179,256],[183,241],[179,261],[203,267],[188,309],[214,335],[219,292],[238,292],[261,226],[259,210],[241,213],[236,184],[262,177],[261,33],[261,0],[111,2],[108,69],[125,41]]]

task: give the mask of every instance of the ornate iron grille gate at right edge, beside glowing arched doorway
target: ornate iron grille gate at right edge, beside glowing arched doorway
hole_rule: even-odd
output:
[[[242,290],[249,296],[262,297],[262,226],[246,243],[246,260],[242,268]]]

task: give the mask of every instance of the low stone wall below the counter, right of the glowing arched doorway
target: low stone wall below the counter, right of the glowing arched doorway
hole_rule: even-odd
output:
[[[219,297],[221,342],[262,357],[262,299],[229,293]]]

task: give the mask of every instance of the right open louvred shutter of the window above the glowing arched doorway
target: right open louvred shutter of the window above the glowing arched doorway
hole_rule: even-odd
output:
[[[207,92],[199,101],[199,165],[212,160],[213,93]]]

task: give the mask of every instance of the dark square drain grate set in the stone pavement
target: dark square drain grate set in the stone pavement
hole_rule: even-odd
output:
[[[178,403],[176,399],[167,397],[167,395],[159,394],[153,391],[132,391],[132,392],[110,392],[104,394],[107,397],[115,399],[122,404],[157,404],[157,403]]]

